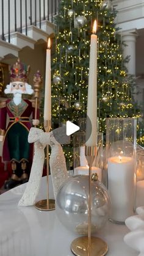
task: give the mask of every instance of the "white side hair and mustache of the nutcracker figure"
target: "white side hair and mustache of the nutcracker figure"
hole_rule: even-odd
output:
[[[5,94],[14,94],[16,96],[17,95],[21,95],[21,94],[29,94],[31,95],[34,90],[32,89],[31,85],[30,84],[27,84],[27,82],[25,83],[25,86],[26,86],[26,90],[20,90],[20,89],[13,89],[12,90],[12,82],[10,82],[10,84],[7,84],[7,87],[6,89],[4,90],[4,93]]]

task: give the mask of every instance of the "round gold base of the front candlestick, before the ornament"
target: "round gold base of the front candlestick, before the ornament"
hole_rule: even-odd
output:
[[[101,238],[91,237],[90,256],[103,256],[107,254],[108,246]],[[88,237],[82,236],[76,238],[71,243],[71,251],[76,256],[88,255]]]

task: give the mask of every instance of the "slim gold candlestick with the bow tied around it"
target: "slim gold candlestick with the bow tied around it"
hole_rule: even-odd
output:
[[[44,128],[46,133],[51,130],[51,120],[44,121]],[[47,198],[35,203],[35,207],[41,211],[55,210],[55,200],[49,199],[49,145],[46,145],[46,174],[47,174]]]

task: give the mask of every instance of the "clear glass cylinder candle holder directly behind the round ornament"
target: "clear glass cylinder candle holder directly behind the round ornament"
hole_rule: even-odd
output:
[[[88,175],[89,167],[87,159],[85,158],[85,132],[74,133],[73,136],[73,167],[74,175]],[[98,174],[98,180],[102,179],[102,165],[103,165],[103,133],[98,133],[98,155],[93,161],[92,174]]]

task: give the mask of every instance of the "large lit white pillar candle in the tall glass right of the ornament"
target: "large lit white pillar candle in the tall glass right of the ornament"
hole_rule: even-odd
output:
[[[124,222],[134,214],[135,163],[127,156],[114,156],[108,159],[108,190],[112,201],[110,218]]]

